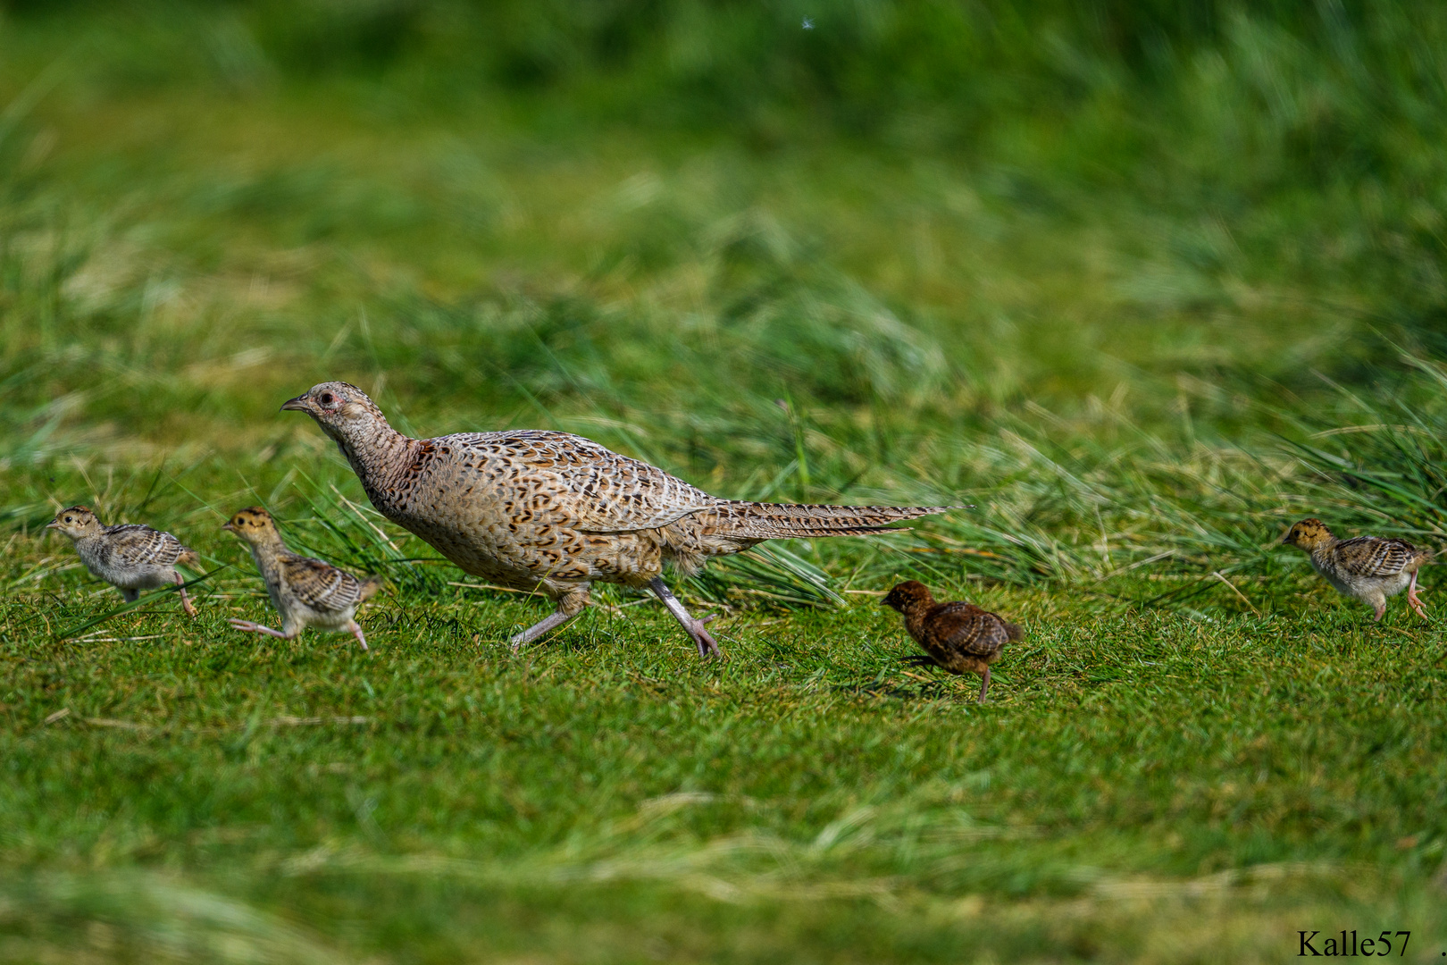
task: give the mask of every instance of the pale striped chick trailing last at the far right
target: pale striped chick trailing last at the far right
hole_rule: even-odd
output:
[[[1405,540],[1356,537],[1338,540],[1321,519],[1302,519],[1282,537],[1282,543],[1299,547],[1311,557],[1311,566],[1337,592],[1362,600],[1376,611],[1373,619],[1386,612],[1386,598],[1406,590],[1406,603],[1427,619],[1418,599],[1417,571],[1431,553]]]

